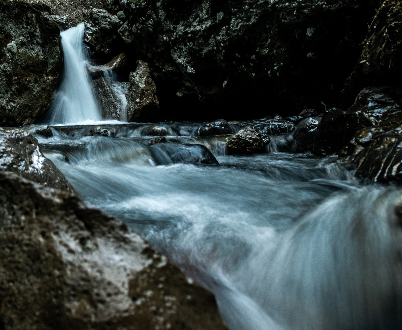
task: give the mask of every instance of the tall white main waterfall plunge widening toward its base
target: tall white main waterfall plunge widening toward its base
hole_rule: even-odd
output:
[[[64,53],[63,80],[49,112],[51,124],[101,120],[86,69],[84,23],[60,33]]]

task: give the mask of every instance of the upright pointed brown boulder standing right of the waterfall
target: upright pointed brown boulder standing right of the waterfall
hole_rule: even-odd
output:
[[[137,69],[130,73],[126,98],[128,121],[154,121],[156,119],[159,101],[156,96],[156,85],[150,76],[146,62],[138,61]]]

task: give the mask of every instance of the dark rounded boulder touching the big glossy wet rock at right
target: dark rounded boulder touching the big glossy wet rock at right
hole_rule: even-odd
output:
[[[322,117],[309,117],[301,120],[295,128],[293,143],[290,147],[292,153],[305,153],[312,151],[317,135],[318,124]]]

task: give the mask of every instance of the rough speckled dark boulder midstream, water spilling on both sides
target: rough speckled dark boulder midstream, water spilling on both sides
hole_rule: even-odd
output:
[[[263,150],[269,137],[263,137],[252,127],[245,127],[233,134],[226,142],[230,155],[249,155]]]

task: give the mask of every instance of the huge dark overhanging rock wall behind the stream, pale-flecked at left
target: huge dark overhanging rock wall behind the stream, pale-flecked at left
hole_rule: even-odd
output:
[[[197,94],[215,116],[242,108],[253,109],[248,116],[275,115],[277,108],[289,116],[336,103],[380,4],[125,0],[129,19],[120,33],[178,102]],[[267,99],[270,106],[261,107]]]

